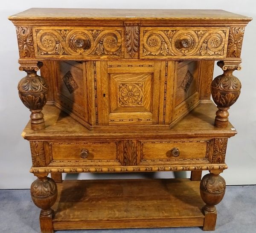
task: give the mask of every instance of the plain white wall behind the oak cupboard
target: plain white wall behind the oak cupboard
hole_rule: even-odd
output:
[[[26,73],[18,71],[15,26],[7,17],[32,7],[126,8],[126,9],[224,9],[255,18],[245,29],[241,71],[234,72],[242,83],[241,95],[230,109],[230,121],[238,135],[228,142],[222,173],[227,184],[256,184],[256,1],[255,0],[7,0],[0,8],[0,189],[29,188],[34,176],[29,173],[29,143],[20,133],[29,120],[29,110],[21,103],[17,83]],[[214,77],[221,69],[215,67]],[[172,172],[151,174],[172,177]],[[184,175],[184,174],[181,174]],[[186,173],[185,175],[189,175]],[[109,174],[79,174],[79,178],[109,178]],[[145,175],[117,174],[120,177]]]

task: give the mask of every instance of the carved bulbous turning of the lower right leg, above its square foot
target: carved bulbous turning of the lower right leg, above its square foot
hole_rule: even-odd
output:
[[[226,182],[220,175],[209,173],[204,175],[200,183],[200,194],[206,203],[204,210],[215,212],[215,205],[224,197]]]

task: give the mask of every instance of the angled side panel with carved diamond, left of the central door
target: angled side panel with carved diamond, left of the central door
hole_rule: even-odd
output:
[[[56,62],[55,102],[71,116],[88,122],[87,81],[82,63]]]

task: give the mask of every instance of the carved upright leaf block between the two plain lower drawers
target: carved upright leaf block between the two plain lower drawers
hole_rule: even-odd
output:
[[[132,140],[124,141],[124,158],[123,164],[124,166],[132,166],[137,164],[137,151],[136,144]]]

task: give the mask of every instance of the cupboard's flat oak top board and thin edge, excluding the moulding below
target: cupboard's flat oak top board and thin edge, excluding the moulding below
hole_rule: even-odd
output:
[[[64,9],[31,8],[9,20],[220,20],[249,22],[250,17],[224,10],[206,9]]]

